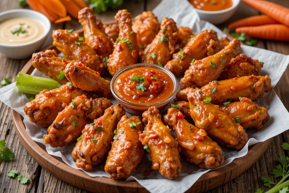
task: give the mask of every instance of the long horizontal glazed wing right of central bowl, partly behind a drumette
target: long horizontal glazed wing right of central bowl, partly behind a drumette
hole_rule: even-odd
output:
[[[270,89],[271,79],[268,75],[251,75],[242,76],[240,78],[231,78],[228,80],[215,80],[201,87],[201,91],[206,95],[206,97],[212,98],[212,104],[227,102],[228,99],[238,101],[240,96],[249,98],[250,100],[256,100],[261,98],[265,92],[269,92]],[[193,90],[193,88],[180,90],[176,95],[177,100],[188,101],[188,93]]]

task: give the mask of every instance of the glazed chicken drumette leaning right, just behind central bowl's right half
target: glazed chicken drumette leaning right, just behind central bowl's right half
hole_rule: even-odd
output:
[[[164,17],[161,29],[140,55],[141,63],[165,65],[175,52],[178,28],[173,19]]]

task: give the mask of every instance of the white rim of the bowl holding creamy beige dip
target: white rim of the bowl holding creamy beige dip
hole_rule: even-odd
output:
[[[39,18],[38,19],[35,19],[35,18],[32,18],[36,21],[38,21],[41,25],[43,25],[44,27],[44,30],[45,30],[45,33],[40,37],[40,38],[37,38],[36,40],[32,41],[32,42],[29,42],[29,43],[25,43],[25,44],[18,44],[18,45],[7,45],[7,44],[3,44],[3,43],[0,43],[0,46],[1,47],[7,47],[7,48],[17,48],[17,47],[24,47],[24,46],[29,46],[29,45],[32,45],[34,43],[37,43],[38,41],[42,40],[43,38],[47,37],[48,33],[50,32],[51,30],[51,23],[49,21],[49,19],[42,13],[40,12],[37,12],[37,11],[34,11],[34,10],[29,10],[29,9],[12,9],[12,10],[8,10],[8,11],[3,11],[0,13],[0,19],[2,16],[6,15],[6,14],[10,14],[10,13],[15,13],[15,15],[13,15],[12,17],[8,18],[8,19],[12,19],[12,18],[15,18],[15,17],[19,17],[17,16],[18,13],[25,13],[25,12],[29,12],[29,13],[32,13],[34,14],[36,17],[35,18]],[[28,17],[28,16],[26,16]],[[28,18],[31,18],[31,17],[28,17]],[[5,19],[3,21],[6,21],[8,19]],[[44,20],[44,21],[43,21]],[[0,21],[3,22],[3,21]],[[47,26],[47,28],[45,27]]]

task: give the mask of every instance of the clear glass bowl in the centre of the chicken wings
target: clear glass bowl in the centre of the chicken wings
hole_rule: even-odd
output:
[[[171,95],[169,95],[163,101],[157,102],[154,104],[134,104],[134,103],[128,102],[128,101],[124,100],[123,98],[121,98],[121,96],[119,96],[117,94],[117,91],[115,88],[116,81],[124,73],[131,71],[133,69],[137,69],[137,68],[153,68],[153,69],[158,69],[158,70],[166,73],[169,76],[169,78],[171,78],[171,80],[173,81],[174,87],[173,88],[167,88],[167,89],[173,89],[173,92],[171,93]],[[131,115],[142,115],[142,113],[144,111],[147,111],[149,109],[149,107],[151,107],[151,106],[156,106],[156,108],[159,109],[159,111],[162,111],[166,106],[168,106],[168,104],[170,104],[170,102],[173,100],[173,98],[175,98],[175,95],[177,94],[178,83],[177,83],[177,78],[173,75],[173,73],[171,73],[171,71],[165,69],[164,67],[159,66],[159,65],[155,65],[155,64],[141,63],[141,64],[134,64],[134,65],[127,66],[127,67],[121,69],[120,71],[118,71],[112,77],[112,80],[110,82],[110,89],[112,91],[112,95],[114,96],[114,98],[119,102],[119,104],[121,104],[121,106],[123,106],[123,108],[125,109],[125,111],[127,113],[129,113]]]

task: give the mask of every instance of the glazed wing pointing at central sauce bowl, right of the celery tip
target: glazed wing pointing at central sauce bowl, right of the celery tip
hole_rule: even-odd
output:
[[[77,88],[99,93],[106,98],[112,97],[110,81],[101,78],[98,72],[80,63],[66,65],[64,75]]]

